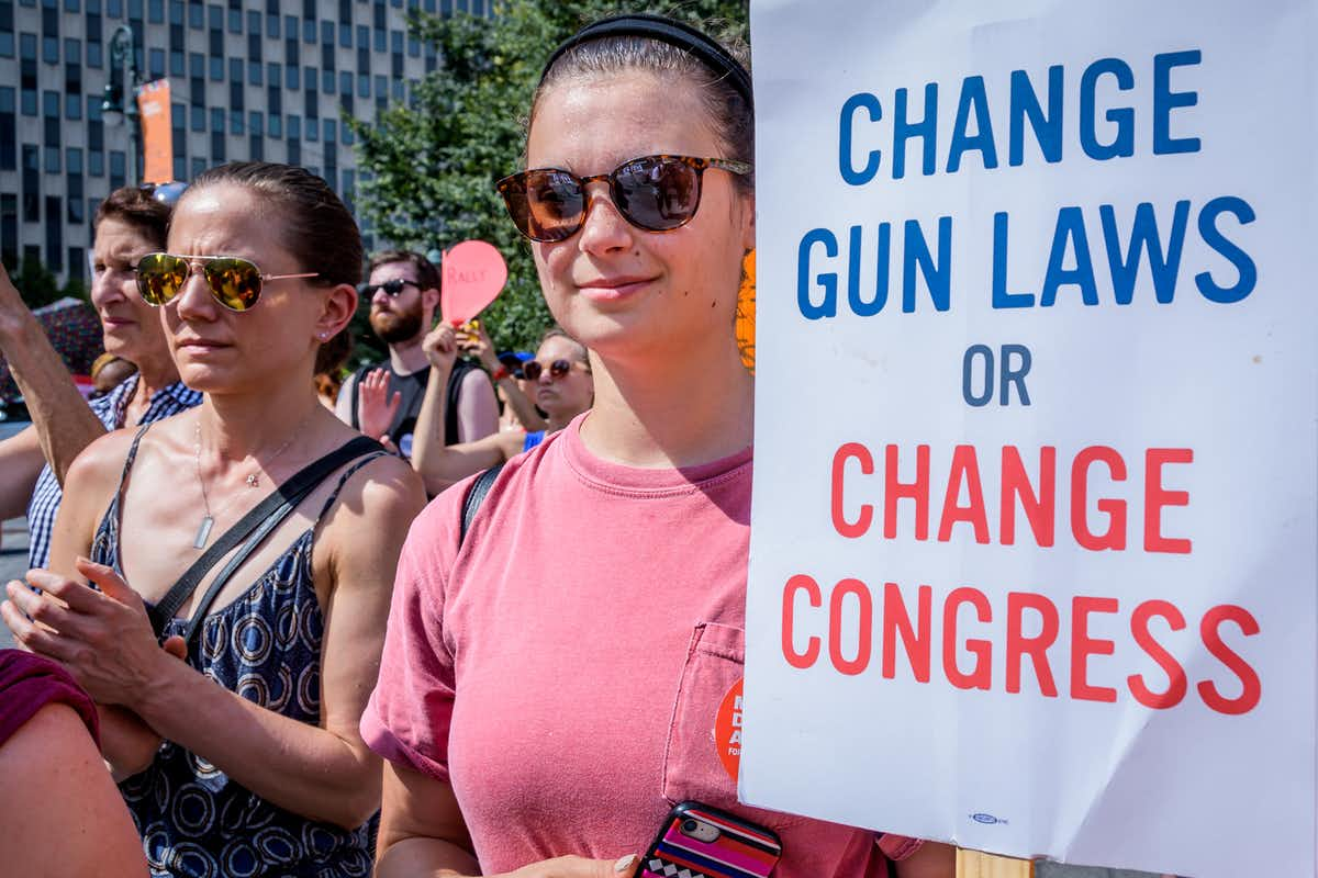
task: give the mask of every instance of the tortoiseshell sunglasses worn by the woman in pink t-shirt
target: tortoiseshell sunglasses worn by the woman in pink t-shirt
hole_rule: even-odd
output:
[[[608,174],[577,176],[556,167],[505,176],[496,186],[518,232],[532,241],[565,241],[585,224],[587,183],[605,180],[614,207],[631,225],[672,232],[696,216],[705,168],[750,174],[751,166],[728,158],[645,155]]]

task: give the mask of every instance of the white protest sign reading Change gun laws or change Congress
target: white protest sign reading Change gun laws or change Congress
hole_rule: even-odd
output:
[[[1314,875],[1315,24],[754,3],[746,802]]]

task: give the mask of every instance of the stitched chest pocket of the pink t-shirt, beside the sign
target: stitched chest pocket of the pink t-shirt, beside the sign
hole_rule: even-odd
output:
[[[746,636],[741,628],[717,623],[696,625],[668,725],[663,795],[671,804],[701,802],[731,811],[751,823],[780,829],[803,823],[807,817],[739,804],[737,782],[720,756],[720,748],[735,745],[735,740],[720,740],[716,725],[725,696],[742,679],[745,642]]]

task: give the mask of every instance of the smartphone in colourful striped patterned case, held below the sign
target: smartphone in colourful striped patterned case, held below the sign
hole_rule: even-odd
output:
[[[637,878],[767,878],[782,856],[772,829],[683,802],[668,812]]]

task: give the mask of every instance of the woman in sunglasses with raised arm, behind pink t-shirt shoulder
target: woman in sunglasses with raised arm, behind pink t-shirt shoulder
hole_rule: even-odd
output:
[[[430,383],[416,417],[413,466],[420,473],[430,494],[439,494],[455,482],[529,452],[544,437],[567,426],[590,408],[594,382],[585,348],[558,326],[540,338],[535,359],[522,365],[522,375],[535,386],[534,401],[548,417],[543,430],[501,430],[474,442],[444,445],[444,405],[448,373],[461,344],[453,328],[440,324],[426,336],[426,355],[431,362]],[[431,388],[436,390],[431,390]]]

